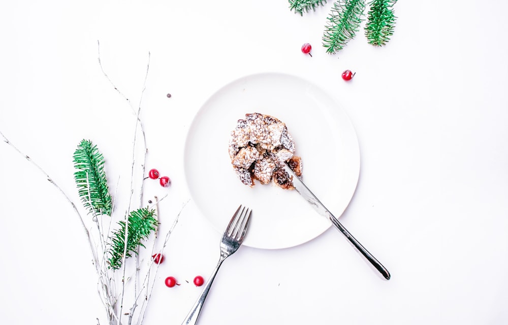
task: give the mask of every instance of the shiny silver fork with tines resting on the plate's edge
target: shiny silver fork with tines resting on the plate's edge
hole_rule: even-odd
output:
[[[224,231],[223,238],[220,240],[220,258],[217,266],[206,282],[201,296],[198,298],[193,308],[187,314],[187,317],[183,321],[182,325],[194,325],[198,321],[201,307],[203,307],[203,303],[205,302],[206,296],[208,295],[208,291],[210,291],[213,279],[215,278],[215,275],[217,274],[217,271],[219,270],[219,267],[224,262],[224,260],[231,256],[242,244],[243,239],[245,238],[245,233],[247,232],[247,228],[249,226],[251,215],[252,209],[249,209],[248,207],[242,208],[242,205],[240,205],[235,214],[233,214],[233,218],[231,218],[228,227],[226,227],[226,230]]]

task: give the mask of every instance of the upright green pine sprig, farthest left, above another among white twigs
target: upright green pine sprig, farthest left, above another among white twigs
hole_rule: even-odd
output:
[[[109,194],[104,157],[90,140],[82,140],[74,152],[74,179],[83,206],[92,215],[111,215],[112,200]]]

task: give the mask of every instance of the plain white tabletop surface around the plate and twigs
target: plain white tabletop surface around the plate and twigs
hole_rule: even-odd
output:
[[[241,247],[214,282],[202,323],[505,324],[508,322],[508,45],[501,1],[401,1],[384,48],[362,32],[335,56],[321,48],[332,2],[304,17],[287,1],[19,1],[0,12],[0,130],[78,201],[72,153],[82,138],[107,158],[118,207],[128,197],[134,115],[146,183],[168,229],[189,195],[183,149],[217,89],[256,73],[308,80],[342,104],[361,170],[341,222],[391,272],[381,280],[334,229],[287,249]],[[313,45],[312,57],[300,52]],[[340,74],[356,71],[352,82]],[[167,98],[166,94],[173,96]],[[0,143],[2,323],[104,324],[90,254],[69,204]],[[145,324],[179,325],[218,258],[220,235],[189,202],[161,265]],[[182,285],[168,289],[164,277]],[[227,318],[224,308],[230,308]]]

